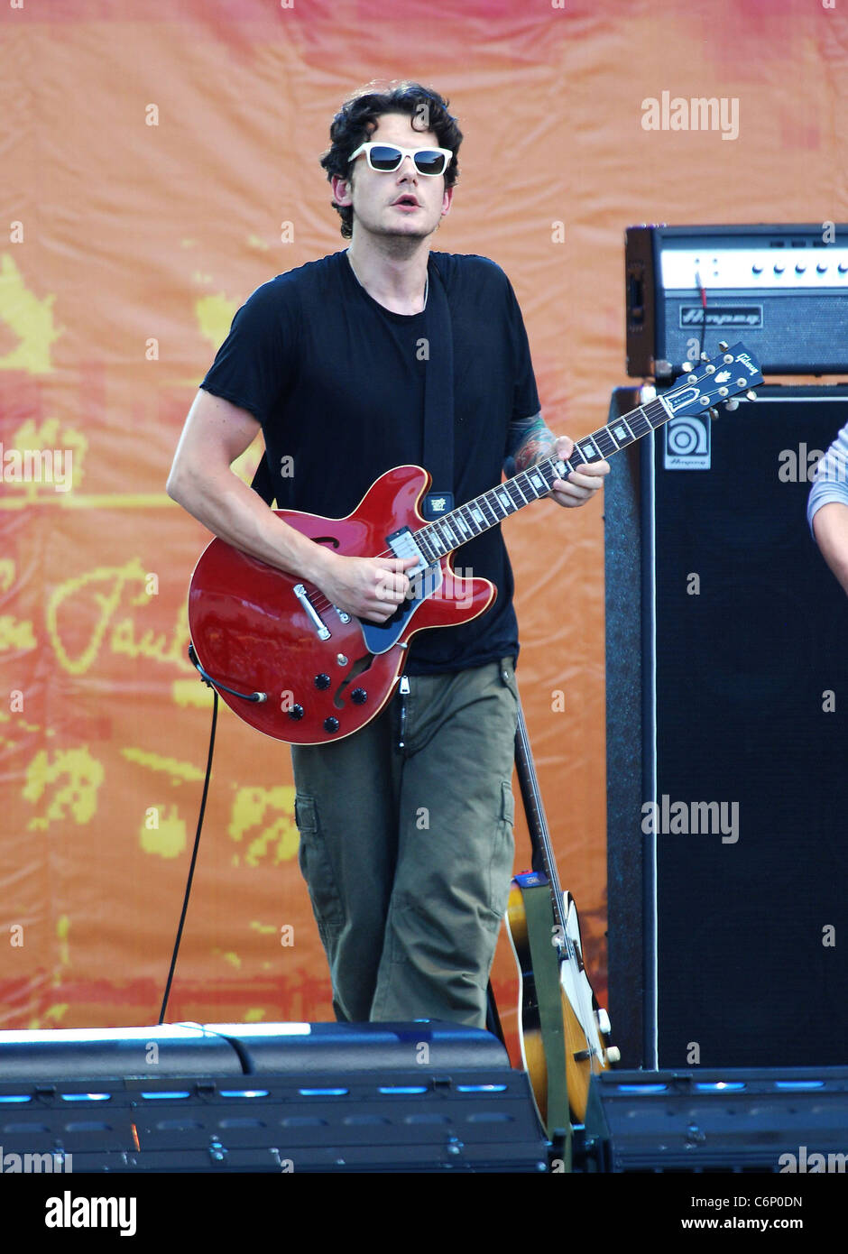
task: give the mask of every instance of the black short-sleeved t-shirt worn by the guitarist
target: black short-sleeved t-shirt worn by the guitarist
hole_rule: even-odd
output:
[[[453,492],[462,505],[501,482],[509,423],[538,413],[539,401],[504,272],[485,257],[430,253],[430,286],[439,281],[434,265],[450,310]],[[342,518],[385,470],[424,464],[423,336],[424,314],[384,308],[359,285],[346,253],[331,253],[252,293],[201,386],[262,424],[281,509]],[[415,635],[410,675],[518,655],[501,527],[462,545],[453,564],[490,579],[498,596],[469,623]]]

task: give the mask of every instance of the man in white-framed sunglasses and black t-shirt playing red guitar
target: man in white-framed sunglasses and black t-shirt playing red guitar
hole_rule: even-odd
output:
[[[340,518],[385,470],[425,464],[425,389],[439,361],[424,329],[438,296],[453,342],[457,504],[496,487],[504,466],[514,474],[573,445],[541,416],[503,271],[430,252],[462,142],[447,102],[418,84],[366,88],[330,139],[321,164],[350,246],[262,285],[238,311],[189,410],[168,493],[228,544],[381,623],[404,603],[415,559],[342,556],[268,509],[231,470],[260,424],[281,508]],[[503,147],[489,154],[492,188],[509,161]],[[587,465],[551,495],[582,505],[607,470]],[[361,730],[292,746],[300,867],[340,1020],[485,1023],[512,877],[518,633],[501,528],[470,539],[463,559],[494,584],[494,604],[415,635],[396,691]]]

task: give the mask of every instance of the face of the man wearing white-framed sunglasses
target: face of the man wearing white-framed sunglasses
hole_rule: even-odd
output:
[[[384,113],[369,138],[399,148],[440,147],[432,130],[415,130],[413,119],[404,113]],[[450,208],[453,188],[445,188],[444,174],[419,174],[411,157],[404,157],[400,167],[386,174],[371,169],[365,153],[360,153],[349,179],[334,177],[332,194],[337,204],[352,206],[354,238],[365,231],[424,240]]]

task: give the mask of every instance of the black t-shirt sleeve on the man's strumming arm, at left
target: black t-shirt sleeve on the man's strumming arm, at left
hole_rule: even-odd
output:
[[[265,424],[291,386],[297,308],[285,276],[257,287],[232,320],[201,387]]]

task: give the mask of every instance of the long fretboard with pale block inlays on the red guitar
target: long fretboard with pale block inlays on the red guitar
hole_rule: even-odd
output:
[[[437,562],[474,535],[497,527],[509,514],[547,497],[556,479],[564,479],[572,470],[591,461],[607,460],[618,449],[655,431],[670,418],[670,410],[659,399],[640,405],[615,423],[577,440],[567,461],[563,458],[546,458],[536,463],[497,488],[484,492],[482,497],[453,509],[444,518],[427,523],[415,532],[415,542],[428,562]]]

